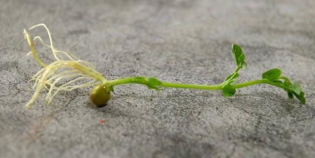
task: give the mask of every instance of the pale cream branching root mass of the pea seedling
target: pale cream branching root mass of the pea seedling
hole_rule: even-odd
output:
[[[31,108],[31,104],[36,100],[39,92],[43,88],[48,90],[45,100],[47,104],[49,104],[60,91],[72,91],[77,88],[91,87],[106,81],[106,79],[102,77],[102,74],[95,70],[92,63],[80,60],[69,52],[57,50],[53,45],[51,33],[45,24],[34,25],[29,30],[40,26],[46,29],[50,43],[46,44],[39,36],[35,36],[33,40],[39,40],[43,46],[50,48],[56,61],[47,66],[44,64],[43,68],[32,76],[30,81],[35,80],[32,86],[35,92],[31,100],[27,103],[27,108]],[[25,31],[25,33],[28,35],[28,32]],[[29,41],[29,44],[30,43]],[[32,54],[32,51],[27,55]],[[63,55],[67,60],[63,60]],[[64,81],[65,83],[57,86]]]

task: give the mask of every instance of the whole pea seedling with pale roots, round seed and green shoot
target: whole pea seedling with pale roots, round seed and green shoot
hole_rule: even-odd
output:
[[[45,98],[47,104],[49,104],[54,96],[60,91],[72,91],[77,88],[93,87],[90,92],[91,101],[98,106],[104,105],[110,99],[111,91],[114,90],[114,86],[124,84],[142,84],[146,85],[149,89],[161,90],[164,88],[186,88],[186,89],[199,89],[199,90],[221,90],[225,97],[232,96],[236,93],[236,89],[255,85],[255,84],[269,84],[279,87],[287,92],[290,99],[294,96],[300,100],[302,104],[305,104],[304,92],[301,85],[294,81],[291,81],[281,75],[281,70],[278,68],[270,69],[262,73],[262,78],[252,80],[239,84],[232,84],[239,77],[238,71],[242,68],[246,68],[245,55],[240,46],[232,44],[232,57],[236,63],[235,70],[230,73],[220,85],[193,85],[193,84],[181,84],[181,83],[167,83],[161,82],[157,78],[151,77],[128,77],[122,79],[107,80],[101,73],[95,70],[95,67],[86,61],[80,60],[69,52],[57,50],[53,45],[51,33],[45,24],[38,24],[32,26],[29,30],[37,27],[44,27],[48,33],[50,44],[46,44],[41,37],[35,36],[33,39],[31,35],[24,30],[24,36],[28,41],[31,48],[31,52],[35,61],[42,67],[31,80],[34,80],[35,92],[31,100],[27,103],[26,107],[31,108],[31,104],[38,97],[40,91],[43,88],[48,90],[48,94]],[[55,60],[50,64],[43,63],[36,55],[33,41],[39,40],[39,42],[51,49]],[[63,60],[66,58],[66,60]],[[63,81],[63,82],[62,82]],[[65,83],[64,83],[65,82]]]

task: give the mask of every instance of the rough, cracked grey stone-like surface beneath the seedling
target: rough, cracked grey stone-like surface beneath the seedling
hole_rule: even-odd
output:
[[[314,158],[314,10],[314,0],[0,0],[0,157]],[[109,79],[220,84],[237,43],[249,65],[238,82],[279,67],[302,83],[306,106],[267,85],[231,98],[127,85],[103,108],[77,90],[51,106],[44,92],[27,110],[39,66],[25,56],[23,29],[38,23]],[[43,29],[31,34],[47,40]]]

